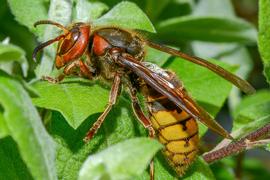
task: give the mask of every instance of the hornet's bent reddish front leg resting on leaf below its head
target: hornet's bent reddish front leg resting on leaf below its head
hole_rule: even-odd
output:
[[[79,68],[79,73],[82,76],[87,77],[88,79],[92,79],[93,72],[90,70],[90,68],[82,60],[77,60],[67,65],[64,69],[63,74],[60,74],[58,77],[53,78],[50,76],[43,76],[42,80],[49,81],[50,83],[59,83],[65,78],[65,76],[75,73],[77,68]]]

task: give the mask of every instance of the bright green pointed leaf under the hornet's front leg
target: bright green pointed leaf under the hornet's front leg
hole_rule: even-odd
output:
[[[40,95],[33,98],[33,103],[38,107],[61,112],[75,129],[89,115],[102,112],[109,99],[107,89],[78,78],[67,79],[60,84],[43,81],[33,87]]]

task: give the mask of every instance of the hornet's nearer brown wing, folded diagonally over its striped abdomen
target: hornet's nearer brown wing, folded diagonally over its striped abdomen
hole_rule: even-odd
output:
[[[130,69],[137,76],[142,78],[149,86],[168,97],[168,99],[174,102],[179,108],[204,123],[211,130],[225,138],[233,139],[223,127],[221,127],[205,110],[192,100],[185,90],[176,88],[173,83],[169,82],[161,75],[151,71],[132,56],[119,56],[118,63],[125,68]]]

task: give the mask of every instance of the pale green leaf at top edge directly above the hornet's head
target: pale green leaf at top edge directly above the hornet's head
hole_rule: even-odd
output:
[[[77,0],[76,21],[91,22],[100,17],[109,7],[102,2]]]

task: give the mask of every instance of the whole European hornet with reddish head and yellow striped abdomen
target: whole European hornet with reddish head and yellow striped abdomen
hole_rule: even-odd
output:
[[[108,105],[84,140],[88,141],[95,135],[115,105],[122,86],[126,86],[134,114],[148,129],[149,136],[151,138],[156,136],[164,145],[164,155],[180,176],[185,173],[198,152],[199,136],[196,120],[224,138],[232,139],[232,137],[188,95],[173,72],[144,61],[145,46],[206,67],[245,93],[255,91],[248,82],[222,67],[148,41],[135,31],[118,27],[93,27],[83,22],[64,27],[50,20],[38,21],[34,26],[41,24],[55,25],[64,32],[40,44],[33,52],[35,59],[38,51],[58,41],[55,66],[57,69],[64,67],[64,71],[57,78],[44,77],[45,80],[56,83],[63,80],[66,75],[76,74],[88,79],[102,78],[112,83]],[[86,57],[85,60],[83,57]],[[149,117],[140,107],[138,92],[145,97]],[[154,179],[153,162],[150,164],[150,177]]]

